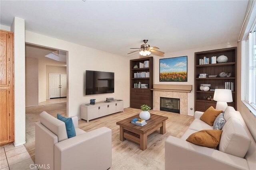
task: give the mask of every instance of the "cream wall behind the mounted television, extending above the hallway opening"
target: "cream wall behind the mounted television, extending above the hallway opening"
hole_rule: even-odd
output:
[[[124,107],[130,106],[129,91],[129,60],[128,57],[114,55],[104,51],[84,47],[60,39],[26,31],[26,43],[60,49],[67,52],[68,76],[68,116],[80,118],[80,105],[89,103],[94,98],[97,101],[107,97],[124,100]],[[98,70],[115,73],[115,92],[112,94],[97,94],[85,96],[85,70]]]

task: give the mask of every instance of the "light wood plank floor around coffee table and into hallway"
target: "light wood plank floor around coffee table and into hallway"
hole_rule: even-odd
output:
[[[66,103],[50,104],[46,106],[32,106],[26,107],[26,149],[28,150],[32,160],[35,160],[35,127],[34,123],[39,121],[39,114],[42,111],[46,111],[56,117],[57,113],[66,115]],[[180,115],[177,113],[170,113],[166,111],[153,111],[150,113],[163,115],[169,117],[166,121],[166,133],[164,135],[159,134],[159,129],[148,136],[148,148],[144,151],[139,149],[139,145],[131,141],[119,140],[119,126],[116,125],[117,121],[136,115],[140,113],[140,109],[126,108],[124,112],[114,113],[105,117],[91,120],[86,123],[84,120],[79,120],[79,128],[84,131],[92,131],[99,127],[108,127],[112,129],[112,166],[120,164],[120,160],[117,160],[115,155],[119,152],[122,154],[136,154],[140,156],[146,156],[154,158],[154,160],[160,162],[164,167],[164,141],[170,135],[175,137],[181,137],[188,126],[194,120],[194,117],[188,115]],[[113,159],[115,158],[115,159]],[[162,168],[161,167],[161,168]],[[145,168],[145,167],[144,167]],[[141,167],[140,169],[144,169]],[[112,168],[111,168],[112,169]]]

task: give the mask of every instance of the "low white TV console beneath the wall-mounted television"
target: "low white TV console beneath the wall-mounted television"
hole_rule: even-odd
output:
[[[110,115],[124,111],[123,100],[115,100],[114,102],[96,102],[94,105],[82,104],[80,109],[81,119],[89,120],[96,119],[98,117]]]

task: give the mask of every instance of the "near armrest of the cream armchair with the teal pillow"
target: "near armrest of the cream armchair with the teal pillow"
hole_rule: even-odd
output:
[[[112,131],[101,127],[56,143],[54,169],[106,170],[112,164]]]

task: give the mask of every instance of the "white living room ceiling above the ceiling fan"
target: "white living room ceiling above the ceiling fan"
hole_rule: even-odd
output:
[[[128,56],[143,39],[165,53],[236,41],[248,0],[0,3],[2,25],[17,16],[28,31]]]

